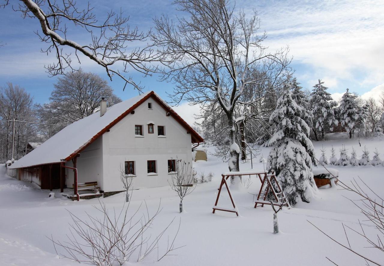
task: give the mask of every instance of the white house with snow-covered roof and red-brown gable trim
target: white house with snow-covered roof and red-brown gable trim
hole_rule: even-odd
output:
[[[9,168],[43,189],[97,182],[101,192],[124,190],[121,167],[133,188],[168,185],[175,159],[192,164],[191,143],[202,137],[153,91],[115,104],[65,127]],[[75,193],[76,194],[76,193]]]

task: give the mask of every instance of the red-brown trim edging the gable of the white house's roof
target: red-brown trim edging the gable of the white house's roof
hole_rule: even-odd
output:
[[[104,127],[100,132],[98,132],[96,135],[94,135],[88,142],[84,143],[79,149],[75,150],[72,154],[70,154],[68,157],[65,158],[66,161],[71,160],[76,154],[84,150],[88,145],[93,143],[98,137],[103,135],[108,129],[116,125],[121,119],[126,117],[128,114],[131,113],[134,109],[136,109],[138,106],[140,106],[143,102],[145,102],[149,97],[152,97],[160,106],[162,106],[166,111],[169,111],[172,117],[179,122],[187,131],[191,134],[192,142],[203,142],[204,139],[191,127],[187,122],[184,121],[174,110],[170,109],[166,104],[164,104],[159,97],[155,94],[154,91],[151,91],[146,96],[144,96],[140,101],[136,102],[133,106],[131,106],[127,111],[122,113],[118,118],[116,118],[114,121],[108,124],[108,126]]]

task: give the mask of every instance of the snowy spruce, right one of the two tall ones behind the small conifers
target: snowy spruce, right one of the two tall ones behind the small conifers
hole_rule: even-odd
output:
[[[341,126],[344,127],[349,134],[350,139],[353,136],[356,126],[359,122],[362,122],[360,120],[364,119],[365,114],[364,109],[359,107],[358,101],[356,101],[357,97],[358,96],[350,93],[349,89],[347,89],[346,93],[341,97],[340,105],[338,107]]]

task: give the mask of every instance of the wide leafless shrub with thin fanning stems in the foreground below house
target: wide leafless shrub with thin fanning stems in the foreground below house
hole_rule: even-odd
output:
[[[153,215],[149,215],[148,208],[140,217],[137,213],[140,207],[129,217],[129,204],[123,206],[120,211],[108,211],[104,203],[100,203],[95,208],[101,213],[101,217],[87,213],[86,219],[79,218],[74,213],[69,212],[72,218],[70,224],[71,233],[67,235],[67,240],[50,240],[55,246],[63,248],[66,253],[60,253],[64,258],[69,258],[78,263],[93,264],[97,266],[123,265],[128,261],[141,261],[153,251],[157,251],[157,261],[180,247],[175,247],[175,239],[179,229],[171,240],[168,240],[167,248],[163,253],[159,253],[164,233],[173,223],[172,220],[159,235],[152,238],[147,230],[151,228],[156,216],[160,213],[160,204]],[[59,253],[58,253],[59,254]],[[133,259],[135,258],[135,259]]]

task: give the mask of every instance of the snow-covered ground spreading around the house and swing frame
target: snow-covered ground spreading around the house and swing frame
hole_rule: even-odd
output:
[[[329,136],[332,139],[332,136]],[[331,145],[337,150],[345,144],[351,152],[352,146],[360,157],[366,145],[372,158],[375,148],[384,154],[384,140],[342,139],[314,142],[316,157],[320,156],[322,145],[330,157]],[[262,148],[266,158],[269,148]],[[253,178],[248,189],[232,191],[240,216],[234,213],[217,211],[212,214],[212,206],[217,196],[220,173],[227,172],[227,164],[209,156],[207,162],[194,164],[198,174],[214,173],[210,183],[198,184],[192,194],[184,199],[187,213],[179,214],[179,199],[169,187],[134,190],[130,210],[136,210],[146,200],[149,211],[154,212],[161,200],[161,213],[156,217],[152,235],[164,229],[176,217],[166,234],[173,236],[177,231],[179,219],[181,227],[176,246],[184,246],[159,262],[157,253],[139,262],[140,265],[333,265],[326,257],[339,265],[363,265],[365,262],[345,248],[334,243],[314,228],[308,221],[321,228],[334,239],[347,244],[342,223],[359,229],[359,220],[364,231],[375,235],[372,224],[364,221],[353,203],[347,198],[356,198],[351,192],[338,189],[321,189],[311,203],[298,203],[295,208],[284,209],[278,213],[281,233],[273,235],[273,211],[270,206],[253,208],[253,195],[257,193],[260,182]],[[384,159],[382,155],[381,159]],[[253,169],[263,170],[263,164],[253,159]],[[349,183],[351,179],[361,177],[376,192],[384,191],[383,166],[332,166],[340,172],[340,180]],[[251,168],[250,162],[240,165],[241,170]],[[0,173],[0,265],[78,265],[69,259],[61,259],[48,236],[65,240],[71,221],[68,211],[85,219],[85,212],[97,215],[93,205],[98,200],[72,202],[65,198],[48,198],[49,191],[40,190],[28,183],[20,182],[5,175],[5,167]],[[250,192],[250,193],[248,193]],[[57,193],[56,193],[57,194]],[[345,196],[345,197],[344,197]],[[118,194],[102,198],[108,208],[119,209],[124,203],[124,195]],[[219,200],[222,207],[230,207],[225,193]],[[68,211],[67,211],[68,210]],[[144,212],[142,208],[139,211]],[[307,221],[308,220],[308,221]],[[369,246],[356,234],[349,233],[349,242],[356,251],[384,263],[382,253]],[[160,253],[166,249],[167,239],[160,245]],[[133,260],[134,261],[134,260]],[[132,262],[132,264],[135,264]],[[131,264],[128,264],[131,265]]]

